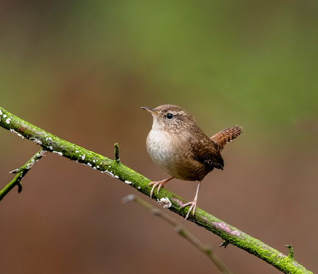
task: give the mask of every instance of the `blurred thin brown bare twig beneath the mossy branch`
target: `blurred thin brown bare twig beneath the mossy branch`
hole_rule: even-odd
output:
[[[205,245],[203,242],[201,242],[197,237],[195,237],[191,232],[189,232],[188,229],[186,229],[183,225],[178,223],[178,221],[173,219],[170,215],[168,215],[167,213],[164,213],[162,210],[158,210],[158,208],[154,208],[153,206],[151,206],[150,203],[147,203],[147,201],[133,194],[123,198],[123,202],[126,203],[127,201],[134,201],[139,206],[143,206],[143,208],[146,208],[147,210],[152,212],[154,215],[160,217],[161,219],[163,219],[170,225],[173,225],[173,227],[175,227],[175,231],[180,236],[182,236],[183,238],[191,242],[191,244],[197,247],[197,249],[202,251],[215,264],[215,266],[217,266],[217,268],[219,269],[219,271],[221,271],[221,273],[233,274],[232,271],[228,269],[228,266],[224,264],[221,258],[217,256],[215,251],[213,251],[210,247],[208,247],[208,245]]]

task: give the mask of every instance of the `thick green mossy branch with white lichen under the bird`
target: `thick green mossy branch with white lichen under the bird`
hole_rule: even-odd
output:
[[[71,142],[67,142],[49,132],[45,132],[45,130],[39,127],[23,121],[1,107],[0,125],[19,136],[33,140],[47,151],[58,153],[58,155],[69,158],[70,160],[86,164],[95,170],[120,179],[147,196],[150,194],[151,187],[149,187],[148,184],[151,180],[119,162],[119,158],[110,160],[103,155],[84,149],[84,147],[79,147]],[[153,199],[161,203],[162,206],[169,208],[172,212],[182,217],[186,216],[188,207],[180,208],[186,201],[169,190],[161,188],[159,194],[155,191]],[[225,242],[230,242],[230,244],[268,262],[283,273],[312,273],[296,262],[292,256],[284,255],[280,251],[269,247],[269,245],[266,245],[264,242],[245,234],[236,227],[221,221],[200,208],[196,209],[195,216],[191,214],[189,221],[208,229],[210,232],[225,240]]]

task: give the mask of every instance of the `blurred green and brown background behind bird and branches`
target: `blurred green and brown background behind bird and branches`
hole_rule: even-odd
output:
[[[243,126],[199,207],[284,253],[292,244],[315,273],[317,12],[310,0],[2,0],[1,106],[110,158],[119,142],[123,163],[154,180],[167,174],[147,155],[140,106],[181,105],[208,135]],[[0,130],[1,188],[38,149]],[[172,227],[123,204],[147,197],[117,179],[49,154],[23,186],[1,201],[1,273],[218,273]],[[167,184],[188,200],[196,186]],[[279,273],[185,225],[234,273]]]

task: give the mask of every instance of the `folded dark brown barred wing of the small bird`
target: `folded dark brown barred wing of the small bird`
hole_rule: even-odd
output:
[[[211,170],[214,168],[223,169],[224,162],[217,144],[206,138],[195,138],[191,144],[193,159],[208,166]]]

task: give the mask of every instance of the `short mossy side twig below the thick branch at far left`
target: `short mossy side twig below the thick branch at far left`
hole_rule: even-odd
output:
[[[32,169],[32,166],[34,166],[34,164],[45,155],[46,152],[47,151],[45,151],[44,149],[40,149],[37,153],[35,153],[32,156],[30,160],[28,160],[19,169],[14,169],[13,171],[10,171],[10,173],[16,173],[16,177],[14,177],[14,179],[12,179],[12,181],[9,184],[7,184],[2,190],[0,190],[0,201],[3,199],[3,197],[5,197],[5,195],[8,194],[10,190],[12,190],[12,188],[14,188],[14,186],[18,186],[19,193],[22,191],[21,180],[27,174],[27,172],[30,169]]]

